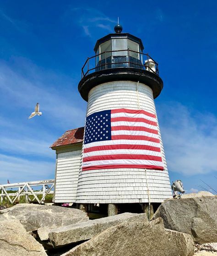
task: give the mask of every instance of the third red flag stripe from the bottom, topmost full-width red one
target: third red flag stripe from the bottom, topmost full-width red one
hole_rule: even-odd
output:
[[[155,152],[161,152],[160,147],[153,147],[148,145],[126,145],[126,144],[118,144],[118,145],[106,145],[106,146],[95,146],[84,148],[84,153],[89,153],[93,151],[100,151],[100,150],[114,150],[114,149],[141,149],[141,150],[150,150]]]

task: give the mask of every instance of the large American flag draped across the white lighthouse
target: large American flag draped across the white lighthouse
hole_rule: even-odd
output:
[[[116,168],[163,170],[155,114],[111,109],[87,116],[82,170]]]

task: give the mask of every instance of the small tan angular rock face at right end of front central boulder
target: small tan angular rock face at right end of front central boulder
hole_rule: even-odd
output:
[[[168,238],[172,240],[174,246],[178,249],[178,255],[181,256],[191,256],[194,254],[194,239],[192,235],[181,233],[179,231],[165,229]]]

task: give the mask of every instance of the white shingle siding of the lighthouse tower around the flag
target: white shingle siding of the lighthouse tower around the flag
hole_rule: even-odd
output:
[[[137,82],[107,82],[91,89],[87,115],[106,109],[139,109]],[[152,89],[138,86],[140,108],[156,114]],[[157,114],[156,114],[157,116]],[[172,197],[167,163],[158,125],[164,171],[146,170],[151,202],[163,202]],[[79,172],[77,203],[135,203],[148,202],[144,169],[103,169]]]

